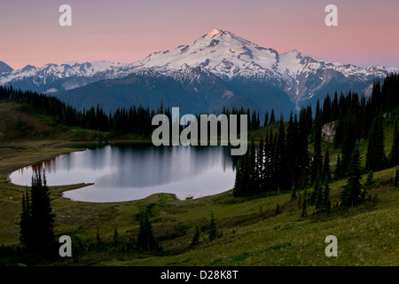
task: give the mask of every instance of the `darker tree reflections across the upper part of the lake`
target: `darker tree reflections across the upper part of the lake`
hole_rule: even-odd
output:
[[[234,171],[238,159],[231,156],[229,146],[118,145],[60,154],[35,163],[31,170],[45,169],[56,178],[57,171],[71,171],[72,184],[82,182],[74,175],[84,169],[90,170],[87,174],[99,186],[145,187],[195,177],[207,170]]]

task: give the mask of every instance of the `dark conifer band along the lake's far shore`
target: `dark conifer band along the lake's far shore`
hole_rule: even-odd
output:
[[[109,131],[115,137],[125,134],[137,134],[148,137],[157,127],[156,125],[152,125],[155,114],[164,114],[168,117],[170,124],[174,123],[170,107],[164,107],[162,102],[160,102],[160,107],[156,110],[150,110],[149,107],[145,106],[130,106],[119,107],[113,114],[106,114],[99,106],[91,106],[90,109],[78,111],[73,106],[68,106],[55,97],[38,94],[33,91],[16,90],[12,86],[0,86],[0,101],[12,101],[30,106],[40,114],[53,117],[55,122],[59,124],[80,127],[82,129]],[[226,114],[228,118],[230,114],[237,114],[238,126],[240,125],[240,115],[246,114],[247,130],[258,130],[261,127],[259,111],[253,110],[251,112],[249,108],[245,109],[244,107],[232,107],[231,109],[224,107],[222,114]],[[195,116],[199,122],[200,137],[200,114],[196,114]],[[218,123],[220,124],[220,122]],[[179,130],[182,129],[183,126],[179,125]],[[238,133],[239,131],[238,127]],[[220,131],[218,132],[219,134]]]

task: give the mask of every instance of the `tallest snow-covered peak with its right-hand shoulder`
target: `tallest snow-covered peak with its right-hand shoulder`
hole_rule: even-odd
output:
[[[224,80],[243,77],[258,81],[277,81],[293,101],[309,99],[335,77],[366,83],[399,68],[367,68],[343,65],[312,58],[298,51],[278,53],[251,43],[231,32],[214,29],[190,45],[173,51],[156,52],[133,64],[137,69],[178,70],[184,64],[203,67]],[[310,83],[316,81],[315,83]],[[340,90],[339,90],[340,91]]]

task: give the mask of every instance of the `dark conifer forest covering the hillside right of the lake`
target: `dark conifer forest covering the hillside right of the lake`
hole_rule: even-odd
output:
[[[278,130],[267,132],[259,146],[254,140],[239,161],[233,193],[235,196],[251,196],[279,190],[293,190],[314,186],[308,203],[317,211],[329,211],[329,182],[332,179],[328,144],[323,151],[322,128],[329,123],[335,129],[332,146],[340,147],[334,179],[347,178],[341,194],[341,205],[353,207],[364,201],[364,188],[360,180],[364,172],[384,170],[399,164],[399,127],[395,123],[392,151],[386,157],[384,150],[383,114],[399,106],[399,75],[387,75],[381,86],[373,83],[372,96],[366,99],[351,91],[333,99],[325,97],[323,107],[319,101],[314,116],[311,106],[303,107],[300,119],[290,116],[286,127],[280,120]],[[274,115],[274,114],[273,114]],[[266,112],[264,125],[270,124]],[[360,162],[358,143],[368,140],[366,165]],[[308,143],[313,143],[309,153]],[[323,155],[324,154],[324,155]],[[305,196],[304,199],[307,197]],[[304,201],[305,202],[305,201]],[[303,205],[306,215],[306,203]]]

